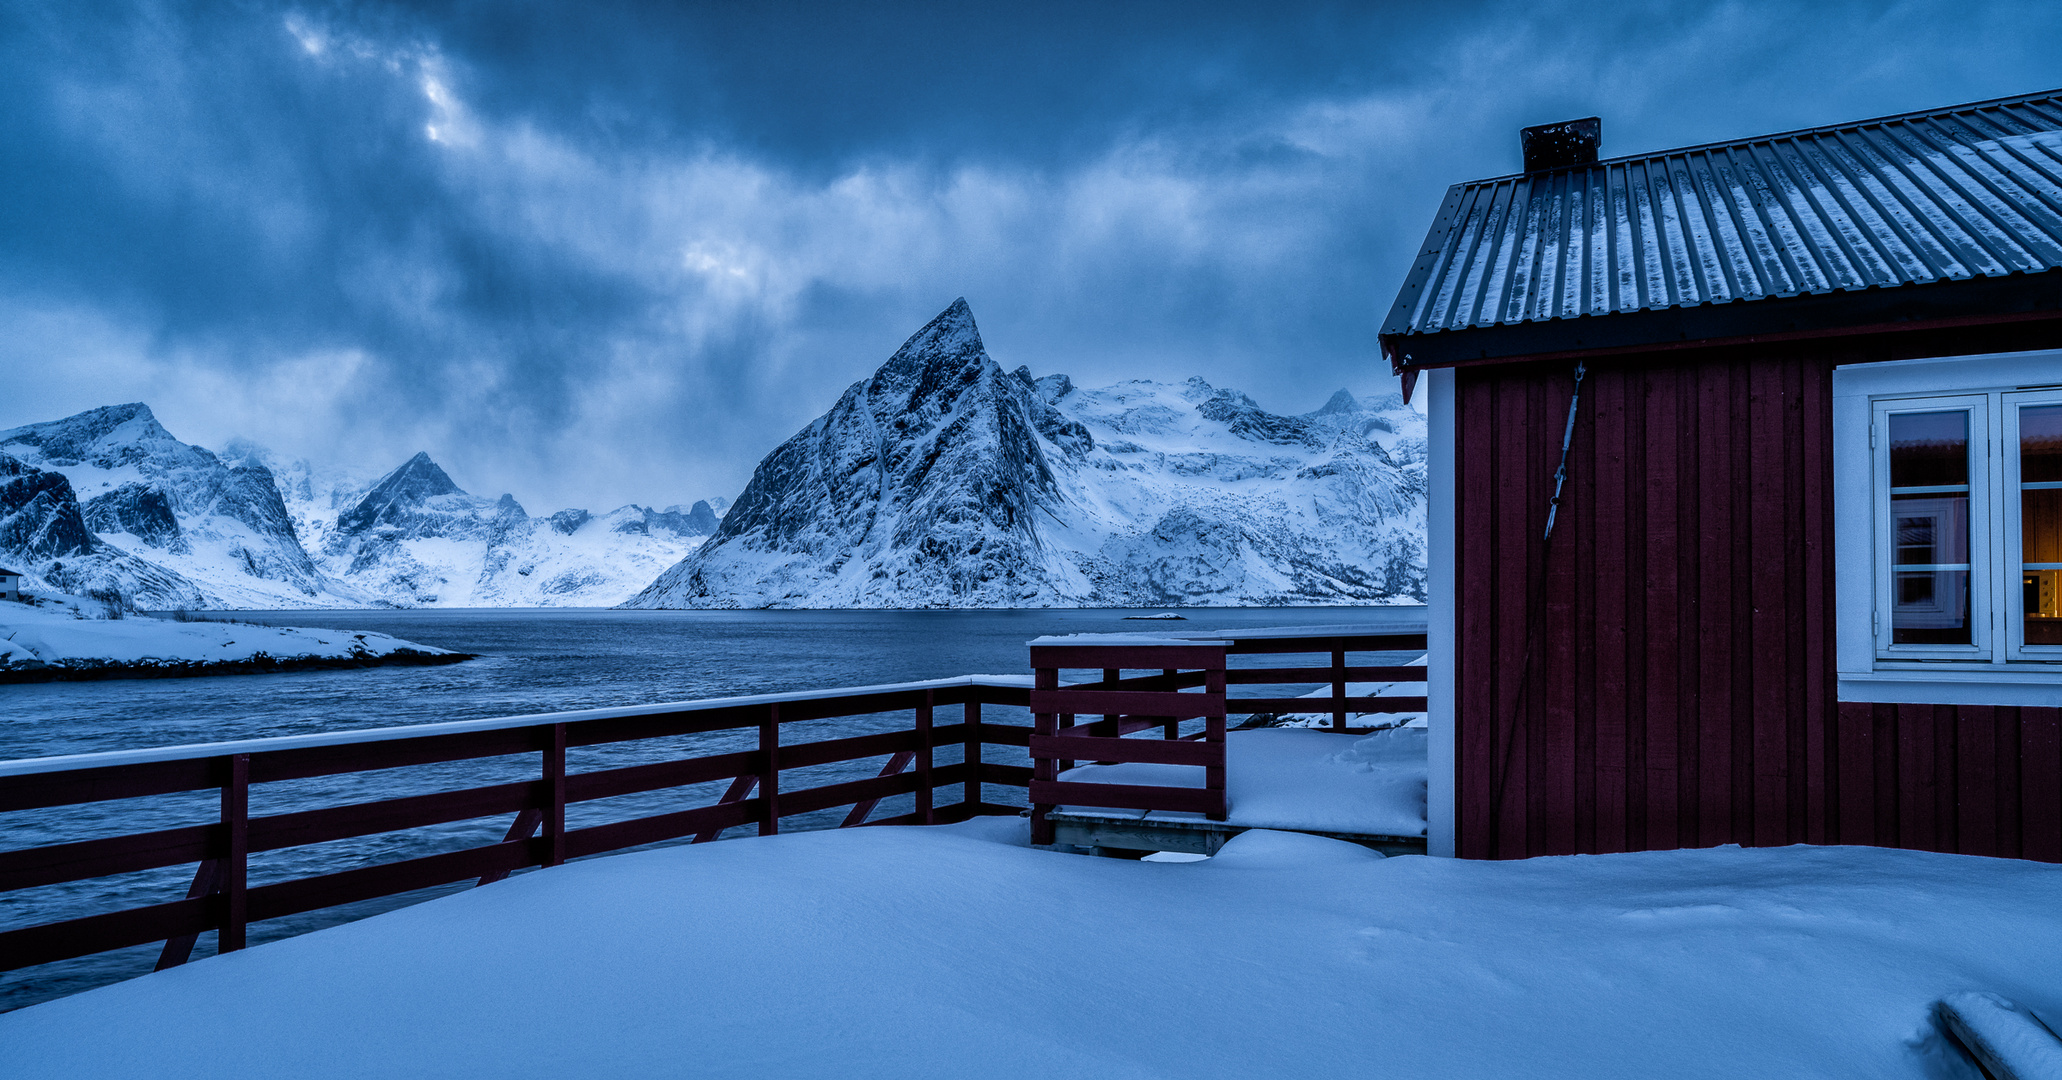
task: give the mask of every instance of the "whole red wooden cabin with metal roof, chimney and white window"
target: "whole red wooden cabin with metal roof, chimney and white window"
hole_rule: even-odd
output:
[[[2062,91],[1596,144],[1454,185],[1382,332],[1431,851],[2062,862]]]

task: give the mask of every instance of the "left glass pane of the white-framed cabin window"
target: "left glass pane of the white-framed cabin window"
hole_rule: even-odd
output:
[[[1969,412],[1893,412],[1891,643],[1971,645]]]

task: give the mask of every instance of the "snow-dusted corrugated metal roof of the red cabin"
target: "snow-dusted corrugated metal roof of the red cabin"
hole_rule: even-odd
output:
[[[2062,91],[1458,183],[1382,334],[2054,268]]]

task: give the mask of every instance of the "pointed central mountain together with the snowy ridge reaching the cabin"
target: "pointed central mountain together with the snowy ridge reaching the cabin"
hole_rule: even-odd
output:
[[[769,453],[629,606],[1379,604],[1425,596],[1423,418],[1002,371],[955,301]]]

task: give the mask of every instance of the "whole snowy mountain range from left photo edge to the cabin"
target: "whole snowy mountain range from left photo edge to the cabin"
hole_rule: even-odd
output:
[[[1340,390],[1004,371],[955,301],[728,507],[532,517],[427,453],[386,476],[181,443],[142,404],[0,431],[0,565],[144,608],[1008,608],[1425,598],[1425,420]]]

